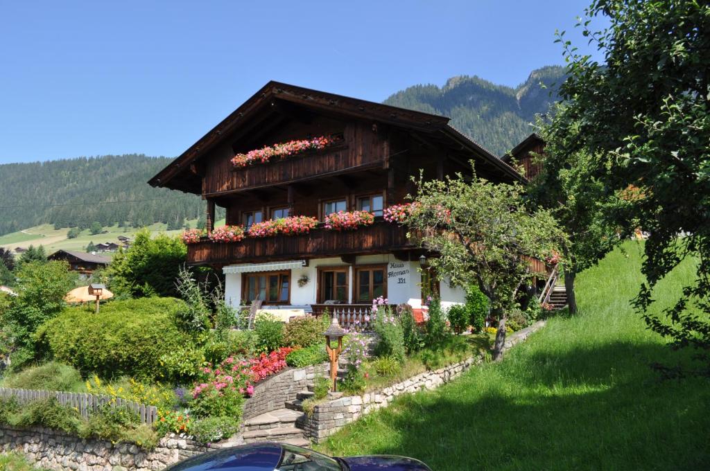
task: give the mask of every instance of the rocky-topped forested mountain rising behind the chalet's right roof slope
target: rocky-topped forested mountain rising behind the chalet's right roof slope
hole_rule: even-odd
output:
[[[564,68],[542,67],[516,88],[496,85],[479,77],[459,76],[444,87],[415,85],[397,92],[385,103],[442,114],[451,124],[494,154],[503,155],[532,133],[536,113],[545,113],[557,99]],[[547,88],[541,87],[540,83]],[[552,95],[550,94],[552,92]]]

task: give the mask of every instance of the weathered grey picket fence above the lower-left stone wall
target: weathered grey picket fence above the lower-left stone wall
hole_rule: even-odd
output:
[[[126,406],[138,414],[141,423],[151,423],[158,420],[158,408],[155,406],[146,406],[146,404],[138,404],[137,402],[121,399],[120,397],[110,397],[104,394],[85,394],[80,392],[62,392],[62,391],[45,391],[41,389],[13,389],[9,387],[0,387],[0,397],[14,397],[20,404],[28,404],[32,401],[40,399],[48,399],[54,397],[64,406],[70,406],[81,414],[82,417],[88,417],[100,406],[109,404],[109,406]]]

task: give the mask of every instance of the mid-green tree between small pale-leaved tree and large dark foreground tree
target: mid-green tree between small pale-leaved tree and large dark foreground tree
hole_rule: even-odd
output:
[[[567,233],[562,245],[564,287],[569,312],[577,312],[574,280],[577,273],[596,265],[615,245],[621,243],[617,226],[606,214],[618,211],[626,201],[607,192],[606,185],[594,176],[594,158],[584,151],[568,153],[564,137],[553,135],[545,126],[542,137],[549,142],[542,160],[542,171],[528,185],[533,207],[552,211]]]

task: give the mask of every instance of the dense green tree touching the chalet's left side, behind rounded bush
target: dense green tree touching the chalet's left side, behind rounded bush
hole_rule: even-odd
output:
[[[187,247],[178,237],[158,235],[143,229],[128,250],[119,250],[107,268],[109,286],[116,293],[132,296],[178,296],[175,279],[185,263]]]

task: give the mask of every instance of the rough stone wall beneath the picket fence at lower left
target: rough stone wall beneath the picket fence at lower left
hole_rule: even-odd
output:
[[[185,436],[170,434],[151,451],[136,445],[83,440],[50,428],[0,426],[0,451],[17,451],[48,470],[153,471],[212,450]]]

